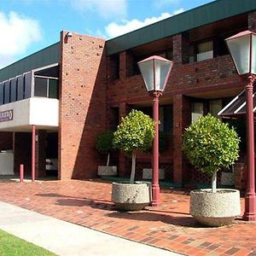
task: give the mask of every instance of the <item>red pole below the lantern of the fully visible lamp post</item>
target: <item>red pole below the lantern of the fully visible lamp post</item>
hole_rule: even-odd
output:
[[[153,143],[153,178],[152,178],[152,201],[151,206],[160,205],[160,186],[159,186],[159,96],[160,91],[153,93],[153,119],[154,119],[154,143]]]

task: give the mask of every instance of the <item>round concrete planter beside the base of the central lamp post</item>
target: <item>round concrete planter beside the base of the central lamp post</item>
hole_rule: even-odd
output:
[[[151,183],[112,183],[112,201],[122,211],[141,211],[151,201]]]

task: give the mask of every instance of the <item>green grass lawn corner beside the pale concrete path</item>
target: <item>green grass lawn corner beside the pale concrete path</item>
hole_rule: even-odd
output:
[[[1,256],[43,256],[56,255],[50,253],[42,247],[33,245],[16,236],[0,230],[0,255]]]

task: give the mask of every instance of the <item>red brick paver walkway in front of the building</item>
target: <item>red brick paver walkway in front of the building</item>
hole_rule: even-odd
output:
[[[115,236],[187,255],[256,255],[256,223],[201,227],[189,215],[185,194],[163,189],[160,207],[117,212],[111,184],[101,180],[0,183],[0,201]]]

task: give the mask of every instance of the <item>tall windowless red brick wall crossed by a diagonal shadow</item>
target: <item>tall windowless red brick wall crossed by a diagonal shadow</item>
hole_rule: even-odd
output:
[[[61,32],[59,169],[61,179],[96,177],[95,149],[106,129],[105,41]]]

